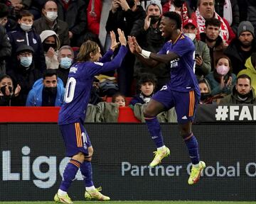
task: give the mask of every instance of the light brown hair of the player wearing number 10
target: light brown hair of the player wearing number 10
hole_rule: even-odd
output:
[[[86,42],[83,42],[80,47],[77,57],[78,62],[86,62],[90,60],[90,52],[92,52],[93,55],[99,52],[99,45],[92,40],[87,40]]]

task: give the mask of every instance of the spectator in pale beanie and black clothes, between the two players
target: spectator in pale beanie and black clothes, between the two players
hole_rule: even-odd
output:
[[[143,49],[159,52],[165,42],[159,29],[162,15],[161,1],[152,0],[147,2],[145,11],[146,18],[134,22],[130,35],[137,38]],[[134,63],[135,84],[137,84],[143,73],[150,73],[156,76],[156,91],[159,91],[170,79],[169,68],[166,64],[159,63],[156,69],[151,69],[151,67],[142,63],[139,57],[136,56]]]

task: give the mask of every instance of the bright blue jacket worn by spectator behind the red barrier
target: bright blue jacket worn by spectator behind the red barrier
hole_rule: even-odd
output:
[[[26,106],[42,106],[42,93],[43,93],[43,78],[38,79],[31,91],[28,93],[26,100]],[[61,106],[63,104],[63,98],[65,94],[65,88],[63,81],[58,77],[57,82],[57,95],[55,99],[55,106]]]

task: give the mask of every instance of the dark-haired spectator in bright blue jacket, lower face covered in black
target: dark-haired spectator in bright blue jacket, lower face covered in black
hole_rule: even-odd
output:
[[[65,88],[55,69],[47,69],[29,91],[26,106],[61,106]]]

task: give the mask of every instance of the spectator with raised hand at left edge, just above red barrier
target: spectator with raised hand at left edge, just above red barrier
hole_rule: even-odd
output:
[[[21,86],[14,84],[10,76],[4,74],[0,77],[0,106],[20,106],[19,92]]]

